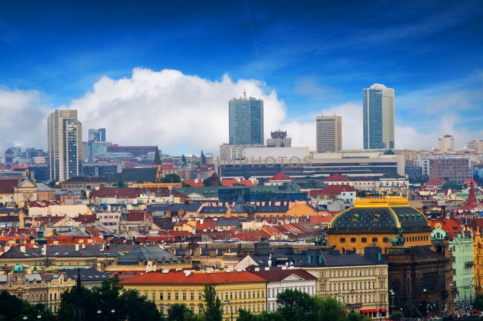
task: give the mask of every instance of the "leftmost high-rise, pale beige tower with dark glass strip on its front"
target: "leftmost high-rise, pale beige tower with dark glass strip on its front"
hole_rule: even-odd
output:
[[[77,110],[57,109],[47,118],[49,179],[82,175],[82,124]]]

